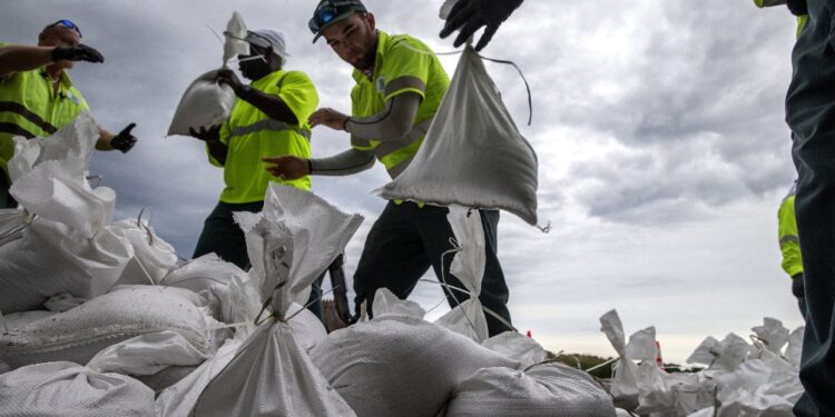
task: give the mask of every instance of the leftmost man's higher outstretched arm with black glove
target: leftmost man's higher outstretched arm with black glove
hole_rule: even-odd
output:
[[[29,47],[12,44],[0,48],[0,78],[14,72],[31,71],[58,61],[104,62],[99,51],[86,46],[73,47]]]

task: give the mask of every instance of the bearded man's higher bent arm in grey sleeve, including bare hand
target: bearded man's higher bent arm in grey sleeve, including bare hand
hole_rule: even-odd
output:
[[[381,142],[401,141],[414,126],[421,96],[416,92],[404,92],[392,97],[380,113],[356,118],[336,110],[324,108],[311,116],[311,126],[327,126],[334,130],[345,130],[361,139]]]

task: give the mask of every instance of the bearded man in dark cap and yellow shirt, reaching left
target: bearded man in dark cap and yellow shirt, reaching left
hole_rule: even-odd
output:
[[[375,158],[397,177],[418,152],[446,89],[449,77],[438,57],[420,40],[406,34],[376,30],[374,14],[358,0],[322,0],[308,27],[314,42],[324,37],[345,62],[354,67],[356,82],[351,92],[352,116],[323,108],[311,117],[311,126],[326,126],[351,133],[352,148],[331,158],[267,158],[269,171],[281,178],[307,175],[346,176],[369,169]],[[497,210],[479,210],[485,237],[487,265],[481,304],[510,324],[508,287],[497,258]],[[445,277],[451,286],[463,285],[449,274],[454,235],[445,207],[390,201],[374,222],[354,274],[355,308],[363,302],[373,314],[372,301],[379,288],[389,288],[406,298],[429,270]],[[469,298],[446,289],[455,306]],[[509,330],[502,320],[488,315],[490,335]]]

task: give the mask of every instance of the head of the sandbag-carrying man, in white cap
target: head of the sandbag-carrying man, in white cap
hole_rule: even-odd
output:
[[[248,30],[246,41],[250,53],[239,56],[240,73],[250,80],[258,80],[282,69],[287,53],[284,36],[268,29]]]

